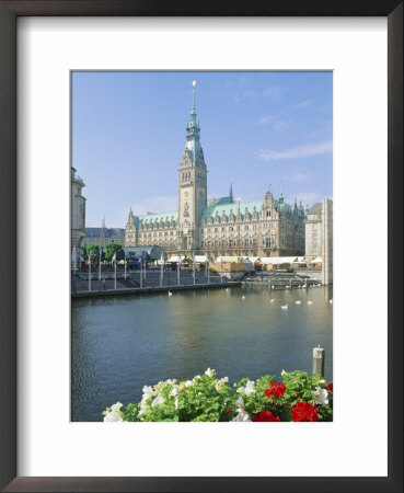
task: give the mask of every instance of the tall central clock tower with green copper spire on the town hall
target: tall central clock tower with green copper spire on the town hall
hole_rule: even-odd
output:
[[[193,82],[193,106],[186,127],[183,160],[178,168],[178,250],[196,251],[199,245],[199,226],[207,205],[207,169],[200,146],[200,128],[196,121],[195,84]]]

